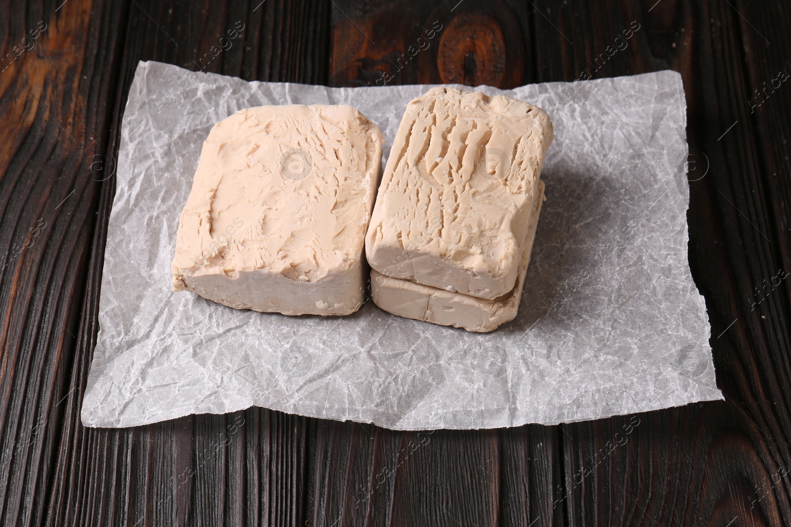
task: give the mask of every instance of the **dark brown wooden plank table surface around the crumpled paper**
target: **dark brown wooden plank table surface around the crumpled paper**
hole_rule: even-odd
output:
[[[62,2],[0,4],[0,525],[791,523],[789,2]],[[408,455],[416,433],[260,408],[82,427],[139,60],[347,86],[681,72],[726,401],[435,431]]]

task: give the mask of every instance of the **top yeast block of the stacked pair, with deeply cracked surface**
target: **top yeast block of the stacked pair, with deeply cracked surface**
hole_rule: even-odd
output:
[[[547,112],[432,88],[407,105],[365,235],[373,269],[484,299],[517,280],[553,138]]]

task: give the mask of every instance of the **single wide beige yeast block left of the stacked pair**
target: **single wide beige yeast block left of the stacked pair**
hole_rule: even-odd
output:
[[[253,107],[218,122],[181,213],[173,290],[254,311],[357,311],[381,147],[350,106]]]

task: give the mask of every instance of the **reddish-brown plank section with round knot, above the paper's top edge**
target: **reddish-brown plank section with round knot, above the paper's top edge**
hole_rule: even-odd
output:
[[[523,85],[528,12],[512,3],[335,2],[331,82]]]

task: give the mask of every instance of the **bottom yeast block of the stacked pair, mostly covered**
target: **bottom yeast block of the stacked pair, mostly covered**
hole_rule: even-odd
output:
[[[411,280],[388,277],[371,270],[371,296],[377,306],[401,317],[416,318],[441,326],[454,326],[485,333],[497,329],[517,316],[530,263],[543,197],[543,181],[528,217],[528,238],[520,255],[517,282],[511,291],[497,299],[482,299],[462,293],[416,284]]]

